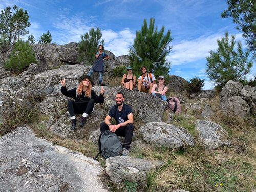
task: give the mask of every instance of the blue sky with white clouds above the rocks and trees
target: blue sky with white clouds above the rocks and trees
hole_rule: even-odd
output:
[[[0,9],[17,5],[29,13],[28,28],[35,39],[50,31],[53,42],[66,44],[78,42],[81,35],[92,27],[99,27],[105,40],[105,49],[116,56],[128,53],[136,30],[141,29],[144,19],[155,18],[155,26],[170,30],[174,40],[167,60],[172,62],[170,74],[186,80],[194,76],[205,79],[203,89],[213,84],[205,77],[206,57],[210,49],[217,49],[217,39],[225,32],[244,39],[231,18],[221,18],[227,8],[224,0],[0,0]],[[24,37],[26,40],[27,37]],[[256,74],[256,66],[248,78]]]

